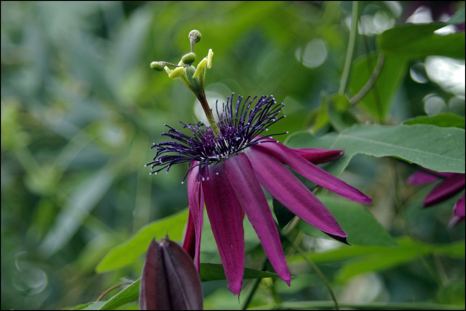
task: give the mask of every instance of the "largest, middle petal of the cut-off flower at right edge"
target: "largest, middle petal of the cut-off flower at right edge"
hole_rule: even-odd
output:
[[[445,178],[425,197],[424,206],[429,207],[443,202],[465,188],[465,174],[455,173]]]

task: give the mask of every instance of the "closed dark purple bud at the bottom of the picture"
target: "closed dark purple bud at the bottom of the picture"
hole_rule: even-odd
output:
[[[139,290],[141,310],[202,310],[202,289],[192,258],[168,237],[152,240]]]

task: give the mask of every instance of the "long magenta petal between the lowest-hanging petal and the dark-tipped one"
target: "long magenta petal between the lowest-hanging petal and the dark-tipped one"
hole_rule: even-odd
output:
[[[254,175],[251,163],[244,153],[239,153],[225,161],[225,170],[233,191],[253,225],[270,264],[289,286],[290,272],[274,217],[268,207],[264,192]]]

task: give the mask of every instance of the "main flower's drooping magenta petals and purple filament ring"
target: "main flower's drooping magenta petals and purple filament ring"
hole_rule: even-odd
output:
[[[342,155],[342,150],[290,149],[272,135],[261,136],[270,125],[285,117],[278,116],[284,104],[277,103],[272,96],[261,96],[253,105],[256,98],[248,96],[243,101],[239,96],[233,104],[232,95],[220,112],[217,107],[218,137],[202,122],[181,122],[191,130],[191,136],[167,126],[169,131],[162,135],[170,137],[171,141],[154,144],[156,156],[147,164],[155,169],[151,174],[162,169],[168,172],[174,164],[188,164],[189,217],[184,248],[194,253],[199,271],[205,203],[228,288],[235,295],[240,293],[244,271],[244,214],[275,271],[290,284],[280,237],[261,185],[295,215],[346,243],[347,234],[335,217],[285,165],[341,196],[357,202],[371,202],[359,190],[313,164],[334,160]]]

